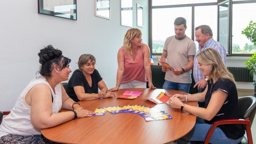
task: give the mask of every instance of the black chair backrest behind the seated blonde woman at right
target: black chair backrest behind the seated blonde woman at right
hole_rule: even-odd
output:
[[[256,98],[254,96],[246,96],[238,98],[240,116],[242,119],[249,118],[251,126],[256,112]]]

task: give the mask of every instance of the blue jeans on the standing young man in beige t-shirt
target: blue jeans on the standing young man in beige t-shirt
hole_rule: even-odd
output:
[[[178,82],[171,82],[165,80],[163,89],[173,89],[173,90],[179,90],[188,93],[189,88],[191,84],[183,84],[183,83],[178,83]]]

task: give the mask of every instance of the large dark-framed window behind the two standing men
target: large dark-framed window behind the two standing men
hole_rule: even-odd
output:
[[[175,35],[173,22],[177,17],[187,20],[186,35],[192,40],[195,27],[206,24],[228,55],[250,56],[256,51],[256,46],[241,34],[251,20],[256,22],[256,0],[149,0],[149,4],[149,46],[153,55],[161,55],[165,39]],[[195,44],[198,49],[198,42]]]

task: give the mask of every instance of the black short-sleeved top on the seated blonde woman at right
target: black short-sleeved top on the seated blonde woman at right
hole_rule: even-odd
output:
[[[214,84],[208,82],[208,90],[205,95],[205,108],[208,106],[212,94],[218,89],[227,93],[227,99],[212,120],[204,121],[208,124],[213,124],[216,120],[240,119],[236,85],[226,78],[219,78]],[[238,139],[245,134],[245,129],[242,124],[224,124],[218,127],[231,139]]]

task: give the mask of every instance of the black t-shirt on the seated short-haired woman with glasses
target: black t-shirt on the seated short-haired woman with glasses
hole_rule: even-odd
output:
[[[97,69],[94,69],[94,71],[91,74],[91,78],[92,78],[92,87],[90,87],[90,85],[88,84],[88,81],[83,75],[83,72],[79,71],[79,69],[75,70],[72,76],[70,77],[70,80],[67,85],[67,94],[69,95],[69,97],[72,98],[75,102],[80,101],[75,94],[75,91],[74,91],[75,86],[83,86],[85,93],[97,94],[98,82],[102,80],[102,77],[100,73],[97,71]]]

